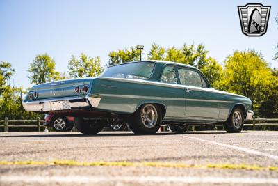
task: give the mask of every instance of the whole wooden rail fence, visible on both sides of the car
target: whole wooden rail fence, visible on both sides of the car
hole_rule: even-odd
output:
[[[245,120],[252,123],[244,124],[245,126],[253,126],[253,130],[256,130],[256,126],[278,126],[278,118],[252,118],[250,120]],[[276,123],[262,123],[262,122],[269,122],[273,121]],[[37,118],[35,120],[8,120],[8,118],[5,118],[4,120],[0,120],[0,123],[3,123],[3,125],[0,125],[0,127],[4,127],[4,132],[8,132],[8,127],[37,127],[38,132],[40,132],[40,127],[45,127],[43,125],[40,125],[43,120],[40,120],[40,118]],[[9,125],[9,123],[36,123],[36,125]],[[222,126],[222,125],[215,125],[215,126]]]

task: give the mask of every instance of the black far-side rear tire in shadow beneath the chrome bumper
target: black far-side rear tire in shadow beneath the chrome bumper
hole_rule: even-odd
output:
[[[97,134],[107,125],[107,121],[74,118],[74,125],[83,134]]]

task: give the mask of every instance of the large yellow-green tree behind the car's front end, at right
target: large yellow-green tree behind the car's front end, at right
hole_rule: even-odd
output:
[[[224,61],[224,73],[219,88],[250,98],[256,113],[274,86],[271,69],[261,54],[253,50],[236,51]]]

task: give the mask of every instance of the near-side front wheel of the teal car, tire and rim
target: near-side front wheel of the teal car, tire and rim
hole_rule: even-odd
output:
[[[224,130],[229,133],[238,133],[243,130],[244,116],[240,108],[233,109],[228,120],[223,124]]]

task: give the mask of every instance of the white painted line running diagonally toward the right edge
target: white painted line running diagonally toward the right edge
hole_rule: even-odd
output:
[[[218,146],[224,146],[226,148],[233,148],[235,150],[239,150],[239,151],[249,153],[249,154],[252,154],[252,155],[261,155],[261,156],[268,157],[268,158],[273,159],[273,160],[278,160],[277,155],[270,155],[268,153],[262,153],[258,150],[252,150],[250,148],[244,148],[244,147],[240,147],[240,146],[233,146],[233,145],[229,145],[229,144],[222,144],[222,143],[217,142],[217,141],[210,141],[210,140],[201,139],[201,138],[198,138],[198,137],[188,137],[188,136],[184,136],[184,137],[187,137],[189,139],[195,139],[195,140],[198,140],[198,141],[203,141],[203,142],[208,143],[208,144],[215,144],[215,145],[218,145]]]

